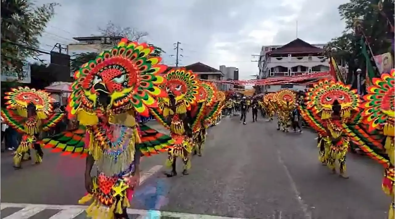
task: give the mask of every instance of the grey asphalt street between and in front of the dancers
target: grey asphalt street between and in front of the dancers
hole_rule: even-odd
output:
[[[166,155],[143,158],[146,180],[136,191],[132,218],[385,218],[390,200],[381,190],[380,165],[350,154],[350,178],[331,175],[318,162],[314,133],[282,133],[276,121],[252,123],[247,116],[246,125],[233,117],[209,130],[203,156],[194,156],[188,176],[166,178],[159,170]],[[26,163],[18,171],[11,161],[2,154],[1,219],[84,218],[75,206],[85,194],[84,160],[46,153],[42,165]],[[181,163],[179,168],[181,173]]]

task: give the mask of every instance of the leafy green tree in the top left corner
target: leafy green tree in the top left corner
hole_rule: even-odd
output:
[[[53,17],[55,6],[37,7],[31,0],[1,1],[1,70],[21,73],[26,58],[38,59],[38,38]]]

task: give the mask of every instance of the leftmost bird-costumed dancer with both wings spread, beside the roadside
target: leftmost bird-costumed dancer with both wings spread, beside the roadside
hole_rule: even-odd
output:
[[[48,131],[60,122],[65,116],[64,113],[53,112],[51,103],[55,99],[43,90],[36,90],[28,87],[11,88],[11,92],[6,92],[8,99],[6,109],[1,109],[1,116],[5,122],[22,134],[13,158],[14,168],[20,169],[21,161],[25,155],[34,149],[34,163],[40,164],[43,159],[43,152],[36,141],[41,137],[43,131]]]

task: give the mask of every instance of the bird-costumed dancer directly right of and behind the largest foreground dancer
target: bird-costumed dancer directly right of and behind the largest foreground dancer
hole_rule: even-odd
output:
[[[190,127],[190,110],[199,99],[199,80],[192,71],[184,68],[171,69],[167,72],[166,83],[162,84],[168,97],[160,97],[159,111],[152,109],[152,114],[159,122],[170,129],[175,144],[169,148],[166,165],[171,167],[167,177],[177,176],[176,159],[180,157],[184,164],[182,174],[188,175],[191,167],[190,154],[193,148],[192,129]]]

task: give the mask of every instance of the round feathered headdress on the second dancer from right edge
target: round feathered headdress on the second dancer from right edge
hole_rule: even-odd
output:
[[[315,114],[320,114],[322,119],[330,118],[332,104],[337,100],[341,106],[340,115],[350,118],[351,112],[358,111],[361,98],[356,90],[351,90],[351,85],[333,80],[320,80],[313,84],[306,94],[306,105]]]

